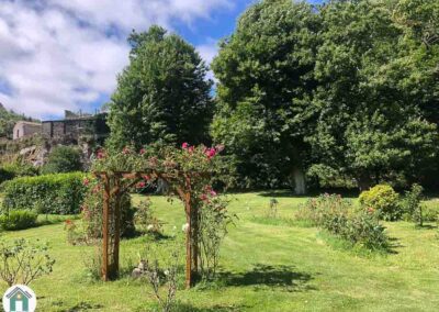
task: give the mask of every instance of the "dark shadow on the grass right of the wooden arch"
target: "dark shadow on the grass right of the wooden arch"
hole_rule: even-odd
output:
[[[219,279],[226,286],[255,286],[256,288],[286,288],[288,291],[315,290],[306,285],[312,276],[295,271],[291,266],[269,266],[258,264],[247,272],[221,272]]]

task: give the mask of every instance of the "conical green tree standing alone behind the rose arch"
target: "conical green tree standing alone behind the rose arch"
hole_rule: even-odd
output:
[[[110,146],[205,142],[212,81],[194,47],[159,26],[133,32],[128,42],[130,65],[110,103]]]

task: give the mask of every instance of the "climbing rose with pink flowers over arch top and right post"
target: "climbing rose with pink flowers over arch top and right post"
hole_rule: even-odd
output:
[[[92,171],[105,172],[109,177],[133,174],[122,179],[122,188],[138,190],[160,186],[168,196],[181,199],[185,203],[187,221],[192,223],[187,244],[195,250],[192,254],[192,259],[195,258],[193,267],[195,271],[201,269],[199,272],[212,275],[217,265],[218,245],[226,233],[225,226],[230,223],[227,201],[218,198],[212,187],[213,178],[217,180],[222,175],[217,155],[223,149],[222,145],[206,147],[188,143],[180,148],[149,145],[140,149],[126,146],[117,152],[100,149]],[[95,188],[94,185],[91,191]]]

